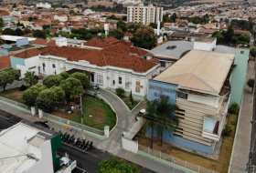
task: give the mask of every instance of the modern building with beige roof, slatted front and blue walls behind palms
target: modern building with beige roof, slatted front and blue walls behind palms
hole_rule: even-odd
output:
[[[229,107],[234,54],[191,50],[148,82],[148,100],[162,95],[178,109],[179,125],[166,141],[213,154]]]

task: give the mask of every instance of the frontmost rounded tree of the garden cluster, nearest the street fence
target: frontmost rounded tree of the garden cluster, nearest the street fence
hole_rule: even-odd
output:
[[[51,112],[65,98],[65,91],[59,86],[53,86],[41,91],[37,97],[37,107],[45,112]]]

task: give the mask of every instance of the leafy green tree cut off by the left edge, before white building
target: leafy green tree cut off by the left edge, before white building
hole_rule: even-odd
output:
[[[19,73],[13,67],[6,67],[3,70],[0,70],[0,87],[5,87],[7,84],[12,84],[16,79],[18,79]]]

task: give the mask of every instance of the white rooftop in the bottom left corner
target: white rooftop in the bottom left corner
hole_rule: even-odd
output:
[[[40,128],[36,124],[20,122],[0,133],[0,172],[25,172],[37,164],[42,158],[39,146],[56,135]]]

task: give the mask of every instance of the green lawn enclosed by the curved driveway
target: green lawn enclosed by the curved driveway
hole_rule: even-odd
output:
[[[83,97],[83,124],[89,127],[94,127],[103,130],[105,126],[109,126],[111,129],[116,123],[115,113],[112,108],[105,104],[100,99],[94,97]],[[76,110],[73,114],[63,112],[53,112],[55,116],[63,117],[74,122],[80,123],[80,110]]]

